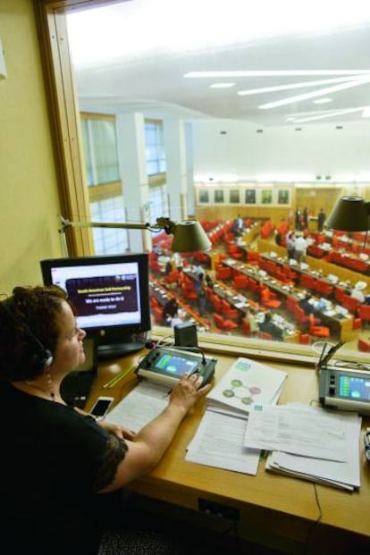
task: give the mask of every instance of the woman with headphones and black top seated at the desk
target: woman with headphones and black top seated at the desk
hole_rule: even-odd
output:
[[[184,416],[210,389],[200,387],[196,375],[184,376],[164,411],[137,434],[97,423],[60,394],[64,376],[84,362],[85,335],[59,288],[16,287],[0,303],[0,527],[6,555],[140,552],[124,537],[114,550],[99,551],[101,501],[156,466]],[[126,515],[120,517],[124,523]],[[152,541],[150,546],[141,551],[167,552]]]

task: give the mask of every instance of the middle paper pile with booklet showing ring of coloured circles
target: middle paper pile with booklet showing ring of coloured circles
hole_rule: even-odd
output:
[[[248,412],[255,402],[276,403],[286,377],[271,366],[238,358],[208,393],[206,413],[186,460],[256,475],[260,450],[243,445]]]

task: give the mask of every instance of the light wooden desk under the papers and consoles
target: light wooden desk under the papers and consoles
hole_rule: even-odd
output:
[[[144,351],[145,354],[147,351]],[[141,354],[139,354],[141,356]],[[218,358],[215,379],[231,366],[235,357],[214,355]],[[121,399],[136,384],[130,374],[114,389],[101,388],[120,369],[131,366],[138,356],[126,357],[114,364],[99,367],[87,408],[99,394],[114,395]],[[280,403],[298,400],[309,403],[317,399],[317,376],[313,368],[284,365],[267,361],[289,373]],[[265,471],[261,461],[256,476],[206,467],[185,461],[187,445],[197,430],[205,402],[200,402],[193,414],[187,416],[171,448],[150,475],[135,483],[130,489],[176,506],[173,511],[187,511],[202,526],[216,526],[218,531],[231,526],[230,521],[208,517],[198,511],[198,500],[213,500],[240,510],[238,534],[240,538],[263,545],[270,545],[287,553],[332,554],[365,553],[370,548],[370,465],[361,458],[361,487],[349,493]],[[364,425],[370,425],[364,419]],[[220,445],[220,450],[223,446]],[[315,490],[321,507],[315,499]],[[195,511],[195,512],[194,512]],[[349,551],[350,550],[350,551]]]

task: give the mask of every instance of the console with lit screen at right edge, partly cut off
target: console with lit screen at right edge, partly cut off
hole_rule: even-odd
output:
[[[319,399],[323,407],[370,415],[370,371],[322,367]]]

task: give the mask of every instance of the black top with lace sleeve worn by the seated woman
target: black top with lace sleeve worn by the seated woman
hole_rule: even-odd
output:
[[[97,553],[97,492],[127,451],[91,416],[0,383],[0,551]],[[5,550],[6,546],[6,550]]]

